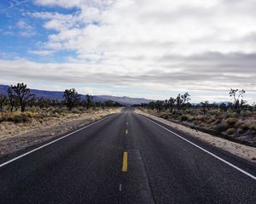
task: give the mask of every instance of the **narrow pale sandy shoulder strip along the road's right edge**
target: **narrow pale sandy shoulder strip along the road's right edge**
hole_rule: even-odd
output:
[[[189,135],[201,139],[209,144],[212,144],[214,146],[217,146],[220,149],[229,151],[231,154],[234,154],[236,156],[240,156],[248,161],[252,161],[253,163],[256,163],[256,148],[247,146],[244,144],[237,144],[235,142],[231,142],[227,139],[218,138],[216,136],[212,136],[208,133],[202,133],[200,131],[197,131],[195,129],[191,129],[189,127],[184,127],[183,125],[177,124],[175,122],[169,122],[166,121],[163,118],[152,116],[146,112],[143,112],[141,110],[137,110],[136,112],[138,114],[142,114],[143,116],[148,116],[149,118],[152,118],[156,121],[162,122],[172,128],[175,128],[177,130],[183,131],[183,133],[188,133]]]

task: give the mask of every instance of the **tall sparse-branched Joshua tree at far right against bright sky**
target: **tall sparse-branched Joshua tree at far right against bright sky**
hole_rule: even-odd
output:
[[[236,113],[240,114],[245,105],[246,101],[243,99],[243,95],[245,94],[245,90],[241,89],[230,89],[230,97],[233,99],[233,108]]]

